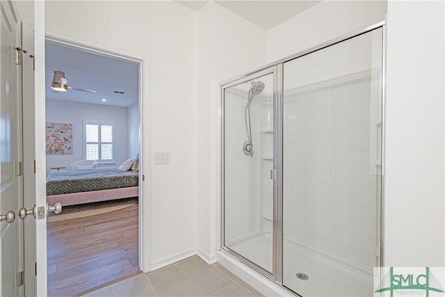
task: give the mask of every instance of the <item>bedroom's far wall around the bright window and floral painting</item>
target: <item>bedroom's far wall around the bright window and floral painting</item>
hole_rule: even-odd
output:
[[[85,159],[83,156],[83,120],[99,120],[114,124],[114,158],[115,163],[100,167],[116,167],[128,158],[128,124],[127,108],[99,104],[83,104],[47,99],[46,121],[72,124],[73,153],[47,154],[47,174],[51,167],[63,166],[70,169],[70,164]]]

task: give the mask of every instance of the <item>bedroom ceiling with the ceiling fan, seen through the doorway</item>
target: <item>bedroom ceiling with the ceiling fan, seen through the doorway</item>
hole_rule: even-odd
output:
[[[122,107],[138,102],[138,64],[51,42],[47,42],[45,47],[47,99]],[[96,90],[97,93],[51,90],[55,70],[65,72],[68,86]],[[115,94],[115,90],[124,94]],[[106,99],[106,102],[102,102],[102,99]]]

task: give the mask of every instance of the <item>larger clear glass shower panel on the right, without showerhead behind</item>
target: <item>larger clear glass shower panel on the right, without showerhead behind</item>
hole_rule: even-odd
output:
[[[283,285],[371,296],[380,266],[382,28],[284,63]]]

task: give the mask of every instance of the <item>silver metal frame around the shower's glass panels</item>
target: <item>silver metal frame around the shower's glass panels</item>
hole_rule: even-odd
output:
[[[283,98],[283,65],[284,63],[291,61],[296,58],[300,58],[302,56],[306,56],[307,54],[312,54],[315,51],[319,51],[324,49],[325,47],[330,47],[331,45],[335,45],[339,42],[346,41],[350,38],[355,38],[364,33],[369,33],[375,29],[382,28],[382,173],[381,173],[381,198],[380,198],[380,267],[385,266],[385,258],[384,258],[384,241],[385,238],[385,106],[386,106],[386,26],[385,21],[377,22],[375,24],[371,24],[369,26],[365,26],[362,29],[358,29],[356,31],[350,32],[348,34],[342,35],[339,38],[334,38],[327,42],[323,42],[320,45],[316,45],[315,47],[311,47],[309,49],[305,49],[304,51],[300,51],[297,54],[293,54],[291,56],[287,56],[286,58],[282,58],[273,63],[269,63],[264,65],[263,67],[257,68],[257,70],[253,70],[252,72],[248,72],[246,74],[241,74],[238,77],[234,77],[233,79],[229,79],[227,81],[223,81],[220,83],[220,246],[219,249],[223,252],[232,255],[236,259],[238,259],[243,264],[253,268],[254,271],[261,273],[261,275],[266,276],[266,278],[272,280],[276,284],[279,284],[282,288],[289,291],[291,294],[296,294],[296,292],[291,291],[289,288],[284,287],[283,285],[283,275],[282,275],[282,261],[283,261],[283,250],[282,250],[282,241],[283,241],[283,210],[282,210],[282,161],[283,161],[283,108],[284,108],[284,98]],[[264,76],[266,74],[273,74],[273,170],[275,178],[273,179],[273,271],[270,273],[266,271],[264,268],[261,268],[257,264],[251,262],[249,259],[246,259],[242,255],[230,250],[225,246],[224,241],[224,90],[225,88],[229,88],[231,86],[235,86],[239,83],[245,83],[247,81],[251,81],[253,79],[257,79],[257,77]],[[217,247],[218,248],[218,247]],[[297,294],[298,295],[298,294]]]

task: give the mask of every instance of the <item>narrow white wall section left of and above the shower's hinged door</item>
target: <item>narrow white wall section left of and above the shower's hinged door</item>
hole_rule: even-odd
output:
[[[266,63],[266,31],[212,2],[198,19],[197,246],[211,261],[219,209],[218,83]]]

